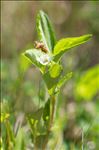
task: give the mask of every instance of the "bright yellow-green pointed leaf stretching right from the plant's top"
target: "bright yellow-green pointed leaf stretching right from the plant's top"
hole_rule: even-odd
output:
[[[80,37],[71,37],[59,40],[54,47],[54,60],[58,61],[66,51],[87,42],[91,37],[91,34],[87,34]]]

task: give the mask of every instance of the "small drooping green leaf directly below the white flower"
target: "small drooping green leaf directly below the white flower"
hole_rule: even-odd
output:
[[[52,63],[48,72],[43,75],[43,79],[47,85],[48,92],[52,95],[55,92],[57,82],[61,75],[62,66],[57,63]]]

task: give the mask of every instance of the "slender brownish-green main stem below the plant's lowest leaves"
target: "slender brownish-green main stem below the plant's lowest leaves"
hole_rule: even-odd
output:
[[[54,121],[54,114],[55,114],[55,96],[51,96],[51,99],[50,99],[50,121],[49,121],[49,126],[48,126],[48,130],[47,130],[47,135],[46,135],[46,138],[45,138],[45,142],[42,146],[42,150],[46,150],[46,146],[47,146],[47,143],[48,143],[48,139],[49,139],[49,134],[51,132],[51,128],[52,128],[52,125],[53,125],[53,121]]]

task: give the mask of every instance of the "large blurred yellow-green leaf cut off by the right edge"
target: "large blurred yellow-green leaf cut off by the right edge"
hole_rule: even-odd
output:
[[[78,100],[92,100],[99,91],[99,65],[87,70],[78,79],[75,85],[75,94]]]

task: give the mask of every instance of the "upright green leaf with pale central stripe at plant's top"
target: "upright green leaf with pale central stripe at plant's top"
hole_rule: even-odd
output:
[[[42,41],[49,51],[54,49],[56,38],[54,35],[52,24],[43,11],[39,11],[37,16],[37,32],[39,40]]]

